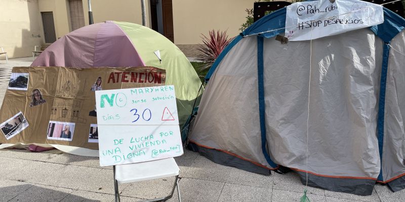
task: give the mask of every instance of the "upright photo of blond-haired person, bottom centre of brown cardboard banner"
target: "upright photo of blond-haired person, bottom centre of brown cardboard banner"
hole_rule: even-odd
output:
[[[47,138],[54,140],[72,141],[74,123],[49,121]]]

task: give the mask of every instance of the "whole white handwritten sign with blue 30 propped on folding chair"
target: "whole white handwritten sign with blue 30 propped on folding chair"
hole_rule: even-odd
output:
[[[173,85],[96,91],[100,166],[183,155]]]

